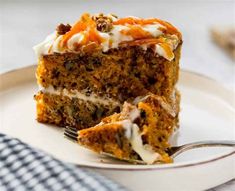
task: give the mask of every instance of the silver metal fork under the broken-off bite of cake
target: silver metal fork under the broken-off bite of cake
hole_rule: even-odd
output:
[[[74,127],[66,127],[64,130],[64,136],[68,138],[69,140],[77,142],[78,138],[78,132],[77,129]],[[78,142],[77,142],[78,143]],[[175,158],[179,154],[196,148],[202,148],[202,147],[234,147],[235,148],[235,141],[200,141],[200,142],[194,142],[194,143],[188,143],[181,146],[174,146],[170,147],[166,150],[166,152],[169,154],[170,157]],[[114,155],[110,153],[102,153],[104,155],[107,155],[109,157],[116,158]],[[124,161],[132,162],[132,163],[138,163],[138,164],[146,164],[144,161],[141,160],[135,160],[135,159],[122,159]]]

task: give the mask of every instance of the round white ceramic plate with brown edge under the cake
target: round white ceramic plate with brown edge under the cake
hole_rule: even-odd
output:
[[[62,129],[35,120],[35,66],[0,75],[0,132],[58,159],[100,172],[131,190],[205,190],[235,177],[235,151],[189,151],[173,164],[132,165],[86,150],[63,138]],[[181,71],[178,144],[235,139],[235,96],[218,83]]]

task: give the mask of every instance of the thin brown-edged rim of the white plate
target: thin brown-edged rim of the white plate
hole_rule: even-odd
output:
[[[16,72],[20,72],[21,70],[32,70],[32,69],[36,69],[37,64],[33,64],[33,65],[29,65],[29,66],[24,66],[24,67],[20,67],[20,68],[16,68],[16,69],[12,69],[3,73],[0,73],[0,79],[1,78],[7,78],[7,75],[14,75],[14,73]],[[194,71],[190,71],[190,70],[185,70],[185,69],[181,69],[181,72],[184,73],[188,73],[191,74],[193,76],[197,76],[206,80],[209,80],[210,82],[214,83],[216,86],[218,86],[219,88],[222,88],[224,90],[226,90],[227,92],[229,92],[233,97],[235,97],[235,91],[233,89],[228,89],[224,84],[218,82],[215,79],[212,79],[204,74],[200,74]],[[26,77],[25,77],[26,78]],[[1,90],[1,83],[0,83],[0,92]],[[3,88],[4,89],[4,88]],[[4,90],[3,90],[4,91]],[[233,106],[233,104],[231,105],[232,109],[235,109],[235,107]],[[50,154],[50,153],[48,153]],[[206,160],[202,160],[202,161],[194,161],[194,162],[182,162],[180,164],[154,164],[154,165],[133,165],[133,164],[127,164],[127,165],[119,165],[117,166],[117,164],[105,164],[105,163],[101,163],[102,165],[95,165],[95,164],[76,164],[76,163],[70,163],[70,164],[74,164],[77,166],[81,166],[81,167],[85,167],[85,168],[93,168],[93,169],[105,169],[105,170],[120,170],[120,171],[146,171],[146,170],[168,170],[168,169],[178,169],[178,168],[187,168],[187,167],[194,167],[194,166],[199,166],[199,165],[203,165],[203,164],[208,164],[208,163],[212,163],[212,162],[216,162],[218,160],[222,160],[228,157],[232,157],[233,155],[235,155],[235,150],[232,150],[230,152],[227,152],[226,154],[223,155],[219,155],[217,157],[212,157],[210,159],[206,159]],[[58,159],[61,160],[61,159]]]

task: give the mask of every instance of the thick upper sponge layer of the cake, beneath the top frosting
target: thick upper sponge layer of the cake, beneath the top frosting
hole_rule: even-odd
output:
[[[87,89],[121,103],[149,92],[168,98],[178,80],[180,49],[179,45],[172,61],[138,46],[106,53],[45,55],[39,61],[37,79],[46,88]]]

